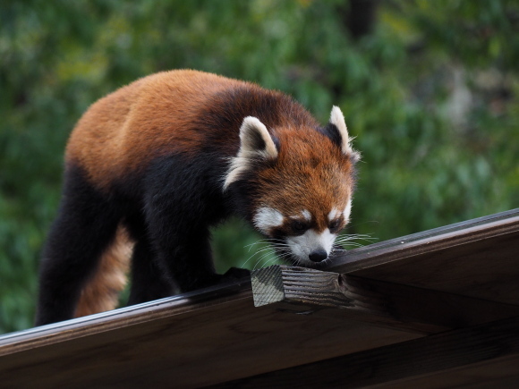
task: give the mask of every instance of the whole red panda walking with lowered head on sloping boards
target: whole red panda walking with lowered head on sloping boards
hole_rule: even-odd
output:
[[[124,266],[106,259],[117,240],[133,244],[129,304],[246,274],[214,269],[209,228],[231,215],[281,258],[319,266],[349,221],[358,159],[336,106],[323,127],[283,93],[188,70],[116,90],[68,141],[36,324],[114,308],[109,284],[121,287],[120,277],[99,274]],[[96,283],[108,288],[106,304]]]

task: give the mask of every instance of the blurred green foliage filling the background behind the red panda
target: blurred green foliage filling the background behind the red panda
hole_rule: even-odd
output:
[[[72,126],[151,72],[253,80],[321,122],[340,106],[363,156],[349,233],[386,240],[518,207],[517,2],[375,4],[358,36],[348,1],[4,0],[0,333],[32,324]],[[257,240],[239,221],[218,229],[219,269],[241,266]]]

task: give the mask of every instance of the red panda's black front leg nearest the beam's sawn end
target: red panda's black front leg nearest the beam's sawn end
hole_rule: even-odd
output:
[[[215,272],[209,227],[223,220],[229,211],[225,209],[221,182],[209,180],[221,176],[221,172],[210,169],[205,159],[168,156],[157,160],[144,182],[149,241],[157,253],[158,266],[166,270],[180,292],[225,278]],[[244,273],[231,271],[227,276]]]

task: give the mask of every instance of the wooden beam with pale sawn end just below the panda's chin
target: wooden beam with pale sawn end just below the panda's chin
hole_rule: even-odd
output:
[[[296,266],[252,272],[257,307],[348,317],[371,325],[433,334],[519,316],[519,307]]]

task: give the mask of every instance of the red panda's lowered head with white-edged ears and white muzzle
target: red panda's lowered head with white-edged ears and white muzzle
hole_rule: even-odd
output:
[[[328,125],[317,129],[287,123],[269,132],[248,116],[240,140],[224,189],[238,187],[246,217],[282,258],[309,267],[327,259],[349,222],[360,157],[341,110],[334,106]]]

